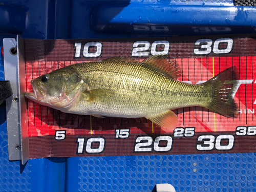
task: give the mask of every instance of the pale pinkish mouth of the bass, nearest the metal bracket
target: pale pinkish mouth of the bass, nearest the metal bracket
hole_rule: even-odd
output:
[[[31,81],[31,86],[33,88],[33,93],[25,93],[25,96],[31,100],[41,101],[45,98],[47,90],[44,86],[37,86],[35,81]]]

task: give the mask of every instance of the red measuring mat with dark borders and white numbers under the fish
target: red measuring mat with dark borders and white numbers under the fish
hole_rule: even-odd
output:
[[[202,83],[236,66],[232,96],[238,118],[201,106],[175,109],[168,130],[146,118],[97,118],[60,112],[27,100],[29,158],[256,152],[256,40],[252,35],[120,39],[24,39],[26,88],[40,75],[110,57],[172,56],[179,81]]]

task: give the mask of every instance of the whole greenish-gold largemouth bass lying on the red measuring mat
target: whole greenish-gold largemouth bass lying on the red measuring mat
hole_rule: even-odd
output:
[[[145,117],[175,129],[172,109],[203,106],[225,117],[237,117],[230,90],[237,78],[231,67],[202,84],[175,80],[180,76],[173,59],[154,55],[139,62],[112,57],[83,62],[42,75],[31,81],[25,96],[65,113],[95,117]]]

